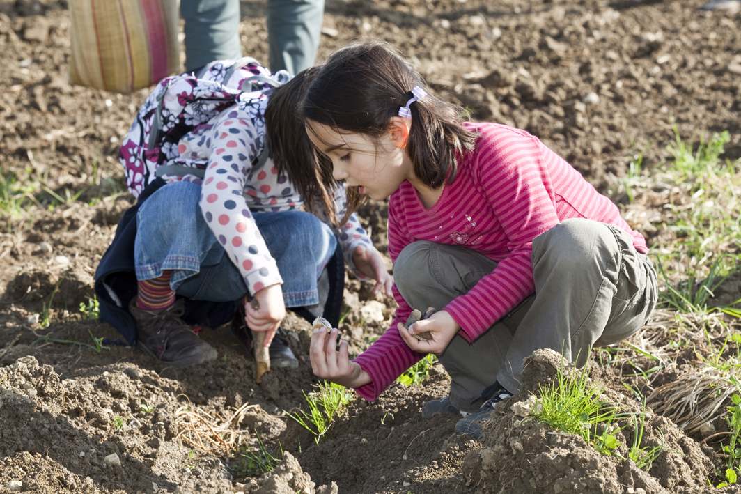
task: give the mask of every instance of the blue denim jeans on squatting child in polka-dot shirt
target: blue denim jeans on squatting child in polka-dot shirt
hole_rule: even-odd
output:
[[[199,185],[175,182],[142,204],[136,217],[136,278],[173,271],[170,286],[183,297],[239,300],[247,294],[245,280],[203,219],[200,194]],[[285,306],[316,306],[317,282],[337,247],[332,229],[304,211],[253,212],[253,217],[278,264]]]

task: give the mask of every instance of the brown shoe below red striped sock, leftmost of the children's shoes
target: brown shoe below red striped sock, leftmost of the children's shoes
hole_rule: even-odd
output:
[[[185,312],[182,300],[161,311],[147,311],[136,306],[129,312],[139,330],[137,343],[147,353],[174,366],[186,367],[215,360],[216,349],[198,337],[180,317]]]

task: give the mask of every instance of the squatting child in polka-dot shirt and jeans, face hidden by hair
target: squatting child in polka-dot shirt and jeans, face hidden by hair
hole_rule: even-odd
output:
[[[227,66],[207,65],[199,79],[222,77],[224,85],[239,85],[257,70],[236,70],[223,80]],[[216,350],[179,320],[177,294],[245,300],[245,322],[253,332],[265,332],[273,366],[297,366],[285,341],[273,342],[273,335],[286,307],[322,314],[322,280],[338,243],[359,277],[375,280],[376,292],[391,294],[393,280],[381,255],[356,216],[345,215],[344,185],[329,188],[312,176],[317,157],[295,114],[311,73],[250,92],[187,131],[176,145],[162,146],[162,165],[181,173],[167,171],[166,185],[139,206],[138,294],[129,308],[139,343],[160,360],[185,366],[216,358]],[[273,77],[288,79],[281,73]],[[178,88],[168,92],[178,94]],[[145,103],[139,114],[146,110]],[[122,159],[127,145],[124,140]],[[266,146],[270,157],[262,159]],[[203,170],[202,177],[186,167]],[[133,186],[137,178],[127,175],[135,194],[142,189]],[[342,218],[339,227],[333,226],[336,218]]]

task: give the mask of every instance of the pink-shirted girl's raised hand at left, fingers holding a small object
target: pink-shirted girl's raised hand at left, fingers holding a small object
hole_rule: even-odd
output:
[[[342,340],[337,348],[337,329],[328,332],[316,329],[311,335],[309,358],[311,370],[317,378],[329,379],[348,388],[359,388],[371,382],[371,376],[350,361],[348,342]]]

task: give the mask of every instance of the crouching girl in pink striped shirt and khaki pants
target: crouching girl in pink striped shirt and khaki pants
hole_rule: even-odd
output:
[[[302,106],[308,136],[359,200],[389,200],[388,251],[399,309],[350,360],[337,330],[312,336],[320,378],[374,400],[426,353],[451,392],[422,408],[468,412],[481,435],[519,391],[522,360],[550,348],[581,366],[594,345],[636,332],[657,300],[641,234],[567,162],[525,131],[463,122],[379,43],[330,56]],[[327,165],[328,166],[328,165]],[[436,312],[405,326],[412,309]],[[463,415],[463,414],[462,414]]]

